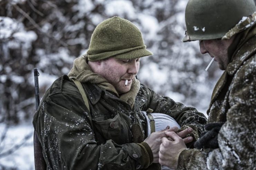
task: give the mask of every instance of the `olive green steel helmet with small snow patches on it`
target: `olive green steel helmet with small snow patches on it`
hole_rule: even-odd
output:
[[[189,0],[185,11],[187,31],[182,41],[222,38],[255,11],[254,0]]]

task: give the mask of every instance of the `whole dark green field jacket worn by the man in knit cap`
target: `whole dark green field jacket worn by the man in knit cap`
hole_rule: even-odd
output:
[[[145,166],[149,162],[143,160],[142,147],[134,142],[131,126],[138,124],[142,128],[144,140],[146,120],[141,111],[148,108],[172,116],[181,127],[196,127],[199,134],[206,123],[205,116],[195,108],[160,96],[144,85],[133,109],[97,85],[83,83],[83,86],[93,125],[89,123],[82,96],[66,75],[47,90],[34,116],[33,125],[49,169],[130,170],[139,164]],[[160,166],[153,163],[148,169],[155,167]]]

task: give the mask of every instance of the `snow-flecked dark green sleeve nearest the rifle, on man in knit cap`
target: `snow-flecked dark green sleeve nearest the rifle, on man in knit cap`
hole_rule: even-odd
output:
[[[128,170],[149,164],[143,160],[143,145],[112,140],[97,145],[82,97],[57,93],[43,99],[33,124],[52,169]]]

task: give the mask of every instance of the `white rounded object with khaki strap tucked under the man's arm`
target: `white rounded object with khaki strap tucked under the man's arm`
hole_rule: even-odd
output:
[[[142,114],[145,116],[147,121],[147,137],[151,134],[150,128],[150,119],[148,114],[145,111],[142,111]],[[169,115],[165,115],[162,113],[151,113],[155,121],[155,131],[160,131],[165,129],[167,126],[174,127],[177,126],[180,129],[180,125],[177,123],[175,119],[173,119]]]

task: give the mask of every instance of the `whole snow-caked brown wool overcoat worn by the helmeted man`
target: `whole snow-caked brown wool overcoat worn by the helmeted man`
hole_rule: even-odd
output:
[[[178,169],[255,169],[255,111],[256,35],[254,34],[236,49],[232,61],[212,93],[208,123],[225,122],[218,133],[219,148],[182,151]]]

